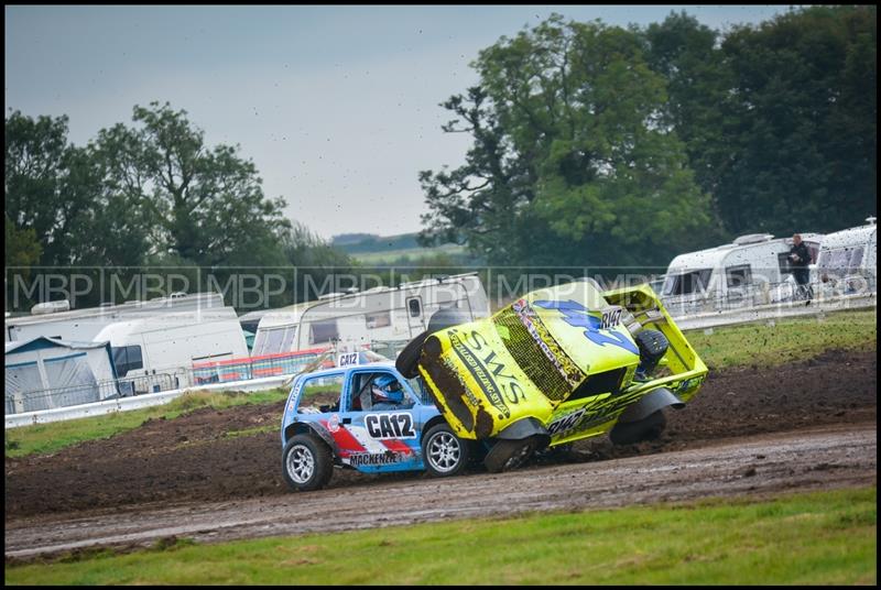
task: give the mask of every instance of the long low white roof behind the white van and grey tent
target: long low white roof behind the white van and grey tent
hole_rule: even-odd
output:
[[[88,342],[96,338],[105,327],[123,319],[144,318],[149,316],[216,309],[224,307],[224,297],[219,293],[172,293],[168,297],[159,297],[149,302],[129,302],[119,305],[105,305],[85,309],[70,309],[69,303],[41,303],[31,308],[30,316],[7,317],[4,338],[7,342],[32,340],[45,336],[56,340]]]

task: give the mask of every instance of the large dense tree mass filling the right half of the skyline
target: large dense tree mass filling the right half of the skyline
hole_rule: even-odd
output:
[[[743,233],[828,232],[875,208],[877,8],[725,34],[553,15],[442,103],[472,142],[423,171],[423,243],[491,264],[656,265]]]

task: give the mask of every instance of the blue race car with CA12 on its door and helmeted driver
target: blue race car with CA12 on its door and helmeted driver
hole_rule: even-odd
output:
[[[294,490],[318,490],[334,466],[365,473],[460,473],[472,442],[458,438],[424,390],[392,363],[297,375],[282,417],[282,472]]]

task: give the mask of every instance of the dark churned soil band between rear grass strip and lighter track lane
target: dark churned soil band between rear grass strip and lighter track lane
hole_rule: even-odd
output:
[[[581,460],[678,450],[741,435],[875,420],[874,352],[829,351],[773,369],[715,371],[660,439],[613,447],[607,437],[575,446]],[[184,501],[287,493],[278,427],[283,404],[199,409],[150,420],[107,440],[6,460],[6,518]],[[248,434],[265,429],[259,434]],[[330,488],[420,473],[365,476],[335,470]]]

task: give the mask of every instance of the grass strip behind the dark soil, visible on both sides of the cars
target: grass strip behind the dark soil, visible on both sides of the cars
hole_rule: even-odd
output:
[[[877,314],[874,309],[840,312],[822,319],[794,318],[747,324],[705,330],[690,330],[686,338],[710,369],[739,365],[775,365],[806,360],[825,350],[875,350]],[[105,416],[23,426],[4,431],[7,457],[55,452],[83,440],[107,438],[139,427],[148,419],[174,418],[197,407],[228,407],[238,404],[273,403],[287,392],[273,390],[261,393],[236,394],[194,392],[173,402],[145,409],[120,412]]]

